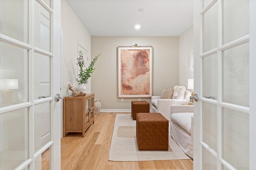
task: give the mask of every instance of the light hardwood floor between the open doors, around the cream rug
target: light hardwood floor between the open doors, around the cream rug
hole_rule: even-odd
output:
[[[125,112],[127,114],[127,112]],[[193,160],[114,162],[108,160],[116,114],[101,112],[82,137],[68,133],[61,139],[62,170],[192,170]]]

